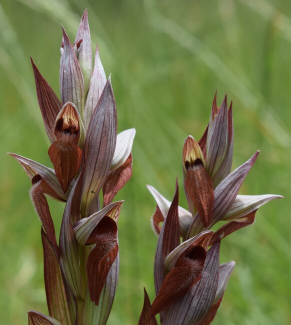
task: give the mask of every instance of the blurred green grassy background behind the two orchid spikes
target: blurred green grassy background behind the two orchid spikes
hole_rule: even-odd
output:
[[[136,324],[154,297],[155,203],[145,184],[182,193],[181,150],[207,124],[215,90],[233,100],[233,167],[260,155],[240,193],[285,196],[223,240],[236,266],[214,324],[291,322],[291,2],[287,0],[0,0],[0,323],[47,312],[40,222],[30,182],[5,152],[51,165],[29,63],[59,94],[60,23],[73,40],[87,7],[93,47],[111,79],[118,130],[135,127],[133,176],[118,194],[120,276],[109,325]],[[56,227],[63,204],[49,201]]]

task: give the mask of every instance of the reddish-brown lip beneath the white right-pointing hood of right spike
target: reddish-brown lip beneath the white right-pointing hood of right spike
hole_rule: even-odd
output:
[[[213,233],[210,244],[213,244],[216,241],[220,241],[222,238],[228,236],[233,231],[236,231],[251,224],[254,221],[255,212],[256,210],[250,212],[239,220],[230,221],[224,224],[222,227],[220,227]]]

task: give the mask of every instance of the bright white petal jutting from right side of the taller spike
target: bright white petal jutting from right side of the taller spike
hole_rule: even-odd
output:
[[[126,161],[132,149],[134,135],[135,128],[129,128],[117,134],[110,170],[117,169]]]

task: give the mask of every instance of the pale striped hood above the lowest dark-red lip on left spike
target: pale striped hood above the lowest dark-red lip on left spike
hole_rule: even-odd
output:
[[[73,226],[75,237],[79,245],[84,245],[88,240],[91,232],[95,229],[99,221],[105,216],[111,216],[112,212],[120,210],[123,201],[117,201],[106,205],[100,211],[93,213],[92,215],[80,219]],[[114,216],[114,214],[113,214]],[[116,222],[117,218],[112,217],[112,219]]]

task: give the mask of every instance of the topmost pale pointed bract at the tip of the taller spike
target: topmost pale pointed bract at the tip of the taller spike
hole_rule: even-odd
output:
[[[87,9],[85,9],[82,15],[79,29],[75,38],[75,43],[80,40],[82,40],[82,42],[77,49],[77,59],[82,71],[84,79],[84,90],[86,93],[92,73],[92,48]]]

